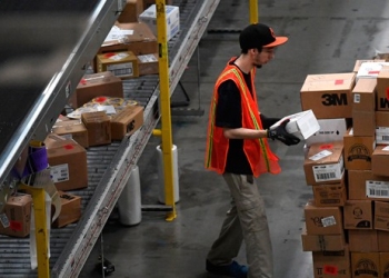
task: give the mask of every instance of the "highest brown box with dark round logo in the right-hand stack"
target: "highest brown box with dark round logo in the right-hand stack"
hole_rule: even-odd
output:
[[[372,152],[376,148],[373,136],[355,136],[349,129],[343,136],[345,167],[348,170],[370,170]]]

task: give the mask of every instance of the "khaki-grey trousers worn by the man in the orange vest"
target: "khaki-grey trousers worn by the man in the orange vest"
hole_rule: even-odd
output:
[[[271,239],[258,187],[252,176],[225,173],[223,178],[231,192],[232,208],[227,212],[207,259],[216,265],[230,264],[245,239],[248,278],[272,278]]]

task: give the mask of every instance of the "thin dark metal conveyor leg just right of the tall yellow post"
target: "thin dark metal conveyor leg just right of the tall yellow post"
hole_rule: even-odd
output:
[[[201,109],[201,91],[200,91],[200,47],[197,46],[196,48],[196,52],[197,52],[197,88],[198,88],[198,108],[192,109],[192,108],[180,108],[182,106],[189,106],[190,103],[190,98],[186,91],[186,89],[183,88],[181,81],[178,82],[178,85],[180,86],[183,95],[186,96],[187,101],[186,102],[172,102],[171,103],[171,115],[172,116],[203,116],[205,110]]]

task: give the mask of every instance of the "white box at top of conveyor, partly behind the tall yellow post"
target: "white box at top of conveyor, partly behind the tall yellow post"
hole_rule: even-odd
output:
[[[166,6],[167,40],[173,38],[180,30],[180,10],[176,6]],[[141,14],[139,21],[148,24],[154,36],[157,36],[157,11],[156,4],[151,4]]]

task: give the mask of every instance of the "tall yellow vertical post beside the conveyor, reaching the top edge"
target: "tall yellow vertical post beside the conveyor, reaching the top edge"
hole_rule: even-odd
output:
[[[167,20],[164,0],[156,0],[157,9],[157,39],[159,48],[159,81],[160,81],[160,107],[162,125],[162,153],[163,153],[163,177],[164,177],[164,201],[172,207],[166,220],[172,221],[176,215],[174,190],[173,190],[173,159],[172,159],[172,136],[171,136],[171,112],[170,112],[170,83],[169,83],[169,59],[167,40]]]

